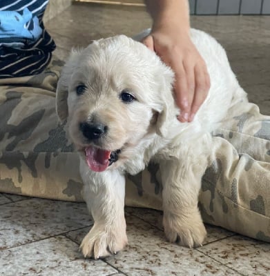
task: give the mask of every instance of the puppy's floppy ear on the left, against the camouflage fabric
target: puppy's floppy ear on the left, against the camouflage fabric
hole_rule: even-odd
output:
[[[71,76],[77,67],[81,50],[72,50],[70,57],[61,70],[56,89],[56,112],[61,122],[68,118],[68,86]]]

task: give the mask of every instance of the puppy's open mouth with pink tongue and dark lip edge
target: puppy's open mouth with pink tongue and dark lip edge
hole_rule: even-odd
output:
[[[120,152],[121,150],[110,151],[88,146],[85,148],[86,162],[90,170],[103,172],[108,166],[117,161]]]

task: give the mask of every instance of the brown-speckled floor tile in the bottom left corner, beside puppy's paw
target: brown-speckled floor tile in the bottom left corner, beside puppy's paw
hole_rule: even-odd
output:
[[[3,250],[0,275],[91,275],[105,276],[117,273],[102,260],[81,257],[77,244],[58,236]]]

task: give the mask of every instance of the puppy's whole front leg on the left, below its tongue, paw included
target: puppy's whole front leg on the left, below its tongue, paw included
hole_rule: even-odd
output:
[[[106,257],[126,246],[124,218],[124,176],[118,171],[88,172],[82,174],[84,199],[95,221],[81,242],[84,257]]]

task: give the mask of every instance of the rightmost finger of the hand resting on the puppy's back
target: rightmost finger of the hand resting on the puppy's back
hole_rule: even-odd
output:
[[[206,67],[202,68],[201,66],[195,67],[195,94],[193,97],[193,102],[191,105],[191,112],[189,116],[189,121],[193,121],[193,118],[199,110],[200,106],[207,97],[210,88],[210,79],[209,74],[206,70]]]

